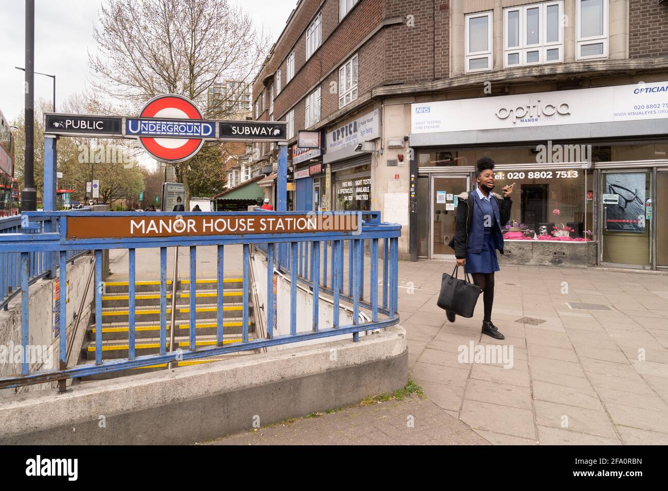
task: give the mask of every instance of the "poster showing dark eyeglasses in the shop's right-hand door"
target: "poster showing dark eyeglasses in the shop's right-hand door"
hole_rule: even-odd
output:
[[[645,172],[606,174],[605,193],[617,195],[615,202],[606,202],[605,230],[614,232],[645,232]]]

